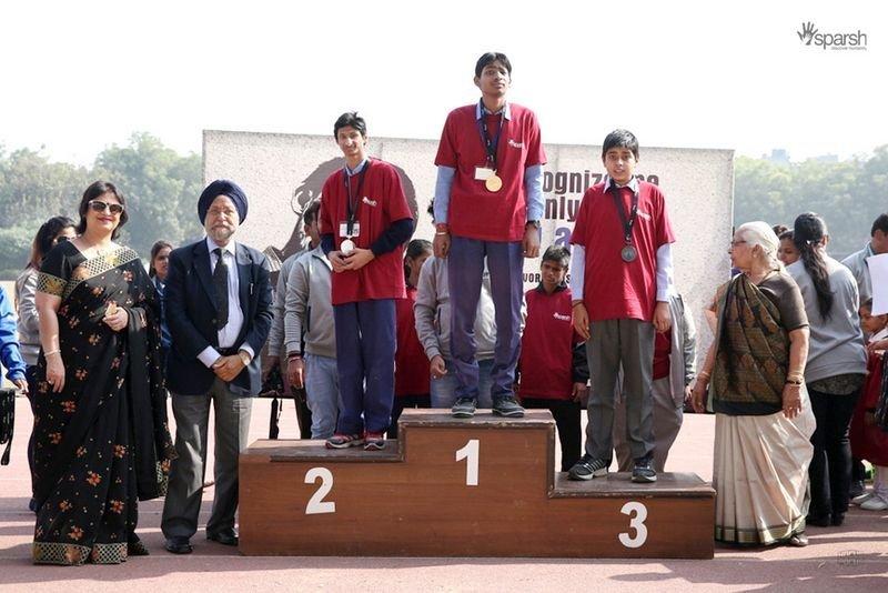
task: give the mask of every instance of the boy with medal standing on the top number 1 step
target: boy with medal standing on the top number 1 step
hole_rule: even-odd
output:
[[[506,101],[512,63],[488,52],[475,64],[477,103],[451,111],[435,164],[435,239],[447,259],[451,353],[456,369],[456,418],[472,418],[478,399],[473,326],[484,262],[496,310],[496,349],[491,370],[494,414],[521,418],[513,393],[521,349],[524,258],[539,254],[543,164],[546,155],[536,115]]]

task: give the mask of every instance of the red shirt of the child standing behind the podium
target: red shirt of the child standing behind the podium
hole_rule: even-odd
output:
[[[573,325],[571,289],[546,294],[542,287],[524,294],[527,320],[521,339],[522,398],[571,400],[574,345],[583,339]]]

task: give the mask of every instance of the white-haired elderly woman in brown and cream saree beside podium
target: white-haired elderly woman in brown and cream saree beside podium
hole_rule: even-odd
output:
[[[808,318],[778,248],[765,222],[734,233],[729,253],[741,273],[716,293],[716,336],[692,402],[716,414],[715,539],[804,546],[815,428],[804,386]]]

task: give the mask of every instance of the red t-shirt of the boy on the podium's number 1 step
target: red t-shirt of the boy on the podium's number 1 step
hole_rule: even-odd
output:
[[[536,115],[527,108],[508,103],[509,118],[500,134],[496,149],[496,174],[503,180],[500,191],[487,190],[475,179],[477,167],[487,167],[487,151],[481,125],[475,119],[477,103],[454,109],[447,115],[435,164],[456,170],[451,187],[447,223],[456,237],[482,241],[521,241],[527,223],[524,171],[545,164],[546,153]],[[484,115],[493,140],[500,129],[500,115]]]

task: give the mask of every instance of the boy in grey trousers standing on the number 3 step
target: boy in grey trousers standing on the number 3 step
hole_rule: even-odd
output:
[[[670,326],[675,238],[663,193],[635,178],[635,135],[627,130],[607,134],[602,161],[607,177],[586,191],[571,235],[574,326],[587,340],[592,392],[586,453],[569,476],[592,480],[607,474],[622,365],[632,480],[655,482],[654,336]]]

